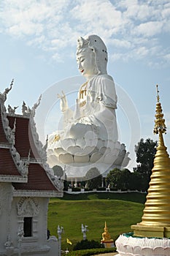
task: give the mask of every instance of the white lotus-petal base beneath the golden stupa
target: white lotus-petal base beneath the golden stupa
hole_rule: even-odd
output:
[[[117,256],[169,256],[169,238],[137,238],[133,233],[120,235],[115,241]]]

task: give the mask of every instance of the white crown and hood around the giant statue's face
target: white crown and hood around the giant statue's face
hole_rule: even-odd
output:
[[[82,53],[85,58],[91,58],[93,75],[107,74],[107,47],[100,37],[95,34],[85,39],[80,37],[77,40],[77,59]]]

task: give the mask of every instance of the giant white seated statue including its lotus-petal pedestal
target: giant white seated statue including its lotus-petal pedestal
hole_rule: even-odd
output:
[[[49,136],[47,161],[50,167],[65,165],[68,178],[82,179],[92,167],[103,174],[128,165],[125,145],[118,142],[117,95],[107,75],[107,48],[100,37],[77,40],[77,64],[86,82],[80,86],[75,109],[66,95],[58,94],[63,112],[63,130]]]

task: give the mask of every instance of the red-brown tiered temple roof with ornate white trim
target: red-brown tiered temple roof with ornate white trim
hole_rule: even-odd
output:
[[[15,196],[34,192],[42,197],[61,197],[61,184],[45,162],[45,151],[33,125],[34,116],[7,114],[1,99],[0,181],[12,182]]]

